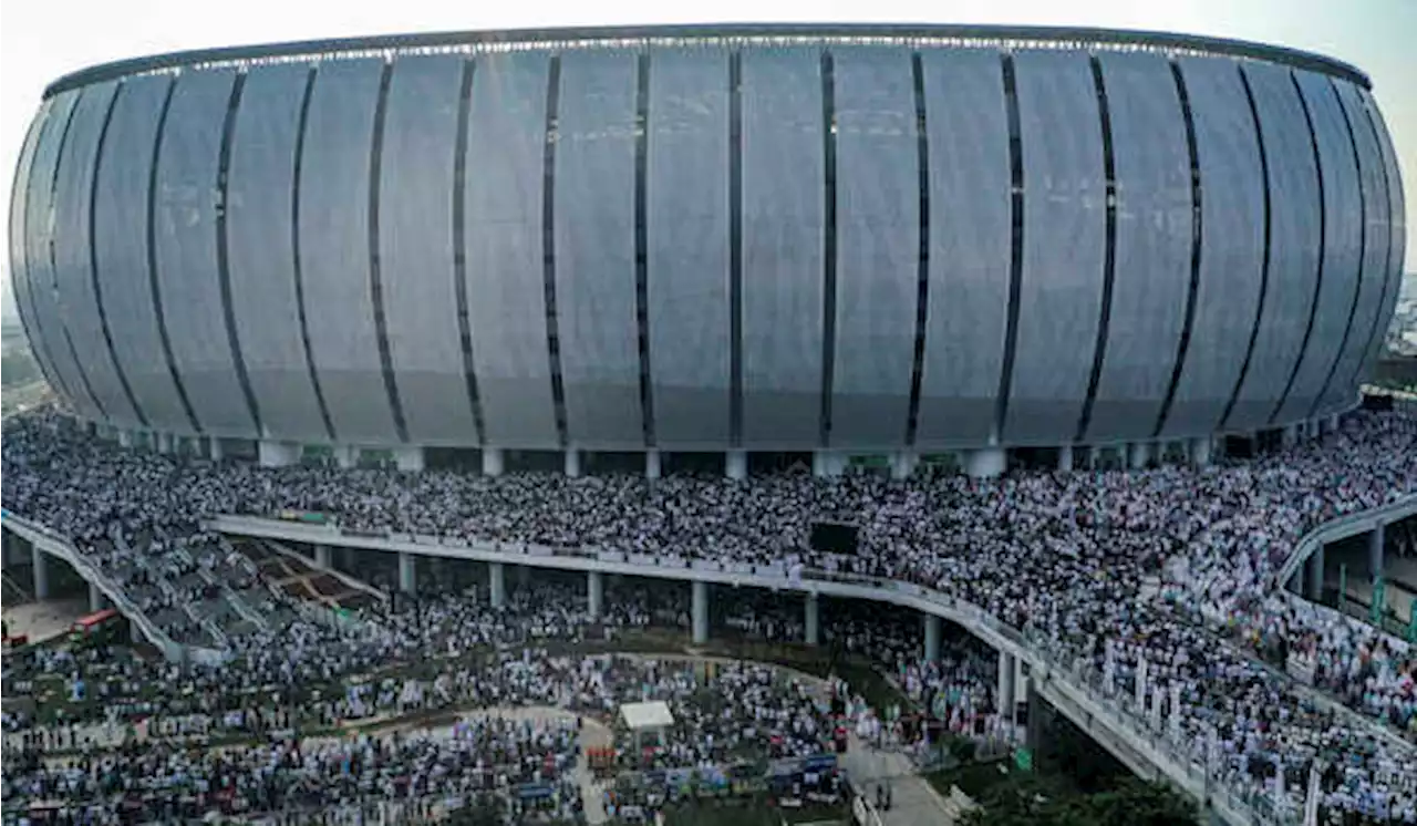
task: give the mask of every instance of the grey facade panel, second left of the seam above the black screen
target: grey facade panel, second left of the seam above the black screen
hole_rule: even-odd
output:
[[[655,435],[728,443],[728,55],[655,51],[645,221]]]

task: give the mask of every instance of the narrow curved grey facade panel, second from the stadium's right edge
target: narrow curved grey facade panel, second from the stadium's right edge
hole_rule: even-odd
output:
[[[1357,290],[1357,306],[1353,307],[1353,323],[1349,327],[1348,341],[1343,344],[1333,378],[1319,401],[1319,414],[1352,407],[1357,400],[1356,378],[1362,370],[1363,357],[1367,354],[1367,336],[1386,298],[1383,288],[1387,279],[1389,255],[1389,201],[1386,181],[1383,181],[1383,153],[1373,137],[1362,96],[1349,84],[1336,82],[1335,85],[1353,126],[1353,142],[1357,146],[1366,232],[1363,234],[1362,282]]]

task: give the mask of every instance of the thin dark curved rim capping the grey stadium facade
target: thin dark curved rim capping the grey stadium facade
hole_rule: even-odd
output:
[[[1356,67],[1314,52],[1253,41],[1200,37],[1165,31],[1056,27],[1056,26],[951,26],[951,24],[812,24],[730,23],[693,26],[605,26],[568,28],[507,28],[490,31],[442,31],[303,40],[265,45],[238,45],[176,51],[152,57],[99,64],[67,74],[44,89],[51,98],[61,92],[112,81],[181,68],[244,67],[262,62],[337,60],[380,52],[517,51],[521,48],[648,48],[667,45],[791,45],[794,43],[961,45],[981,48],[1105,48],[1155,50],[1197,55],[1236,57],[1284,64],[1343,78],[1365,89],[1372,81]]]

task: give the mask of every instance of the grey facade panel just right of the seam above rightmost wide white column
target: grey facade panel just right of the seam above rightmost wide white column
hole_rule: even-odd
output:
[[[1107,184],[1088,55],[1015,57],[1023,142],[1023,289],[1003,441],[1070,441],[1102,303]]]

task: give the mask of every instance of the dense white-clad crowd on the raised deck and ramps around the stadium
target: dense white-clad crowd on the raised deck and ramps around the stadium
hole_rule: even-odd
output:
[[[224,584],[242,565],[201,531],[204,517],[319,511],[367,531],[910,581],[978,605],[1101,690],[1135,697],[1178,748],[1280,812],[1302,808],[1318,765],[1329,809],[1417,822],[1407,643],[1298,604],[1275,582],[1305,531],[1417,492],[1414,442],[1417,417],[1399,411],[1353,414],[1322,439],[1206,469],[486,477],[177,459],[37,417],[0,439],[0,506],[68,537],[116,581],[135,581],[123,565],[142,568],[139,581],[156,582],[167,599],[149,595],[147,604],[183,605],[208,642],[235,652],[227,670],[255,663],[292,687],[436,645],[436,632],[332,628],[299,606],[285,606],[279,622],[252,618],[259,612]],[[859,551],[812,550],[818,521],[857,524]],[[215,628],[198,608],[214,595],[244,606],[231,615],[249,628]],[[344,642],[329,645],[332,635]],[[1352,713],[1274,667],[1291,657],[1309,663],[1316,689]],[[961,673],[973,670],[901,666],[907,686],[949,686]],[[954,689],[961,707],[989,693]]]

